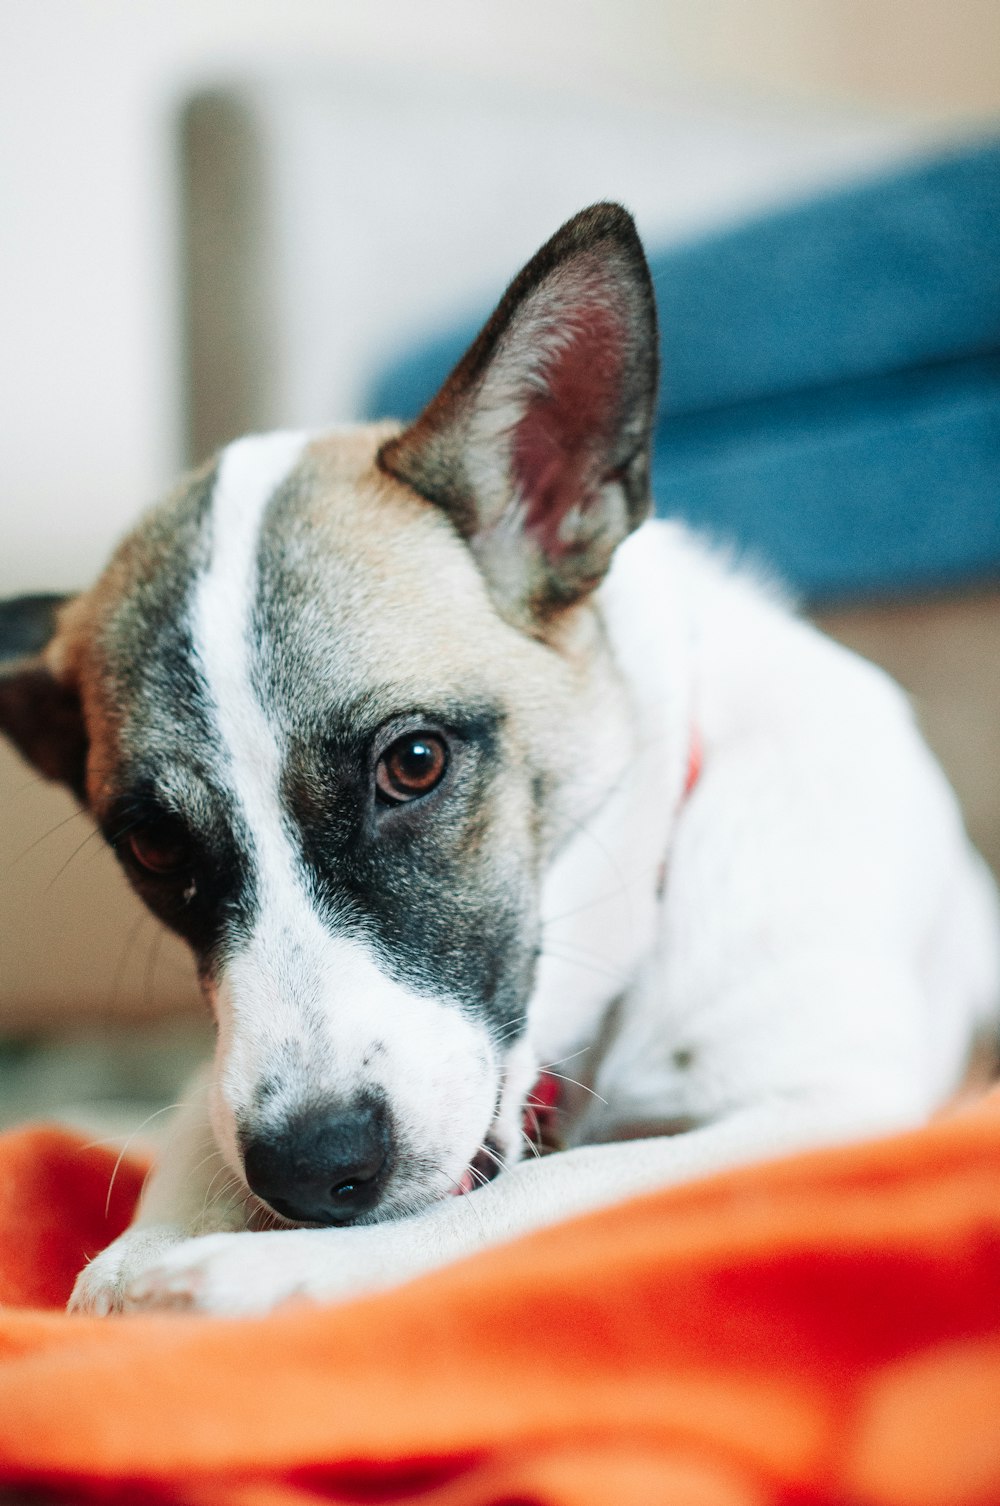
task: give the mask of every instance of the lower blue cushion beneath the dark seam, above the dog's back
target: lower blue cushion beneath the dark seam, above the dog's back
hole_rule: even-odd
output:
[[[660,429],[663,517],[735,542],[815,602],[1000,574],[1000,355]]]

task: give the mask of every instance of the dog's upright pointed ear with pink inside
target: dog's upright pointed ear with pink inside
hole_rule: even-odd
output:
[[[506,616],[538,622],[596,586],[649,511],[657,367],[636,226],[595,205],[515,277],[380,465],[449,514]]]

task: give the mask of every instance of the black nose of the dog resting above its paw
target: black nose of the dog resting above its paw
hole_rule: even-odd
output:
[[[346,1224],[375,1206],[389,1170],[381,1107],[313,1111],[244,1146],[250,1188],[294,1223]]]

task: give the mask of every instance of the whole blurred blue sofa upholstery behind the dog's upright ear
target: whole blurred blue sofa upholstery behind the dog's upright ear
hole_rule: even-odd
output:
[[[813,601],[1000,575],[1000,146],[651,258],[654,492]],[[414,416],[482,321],[375,387]]]

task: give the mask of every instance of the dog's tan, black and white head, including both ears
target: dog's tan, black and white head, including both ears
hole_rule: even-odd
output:
[[[0,679],[0,724],[190,941],[218,1142],[289,1220],[520,1154],[539,886],[625,758],[590,592],[648,511],[655,375],[642,248],[599,205],[411,428],[229,446]]]

